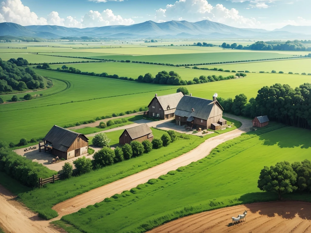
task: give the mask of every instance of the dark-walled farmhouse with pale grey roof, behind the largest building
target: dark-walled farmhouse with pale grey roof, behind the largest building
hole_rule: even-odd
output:
[[[156,94],[148,105],[148,115],[160,119],[174,117],[176,106],[182,97],[183,93],[181,92],[162,96],[157,96]]]

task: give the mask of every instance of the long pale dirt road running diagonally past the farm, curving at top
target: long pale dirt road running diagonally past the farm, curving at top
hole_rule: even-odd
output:
[[[53,220],[60,219],[66,214],[77,212],[81,208],[85,208],[88,205],[94,205],[95,203],[101,202],[105,198],[111,197],[116,193],[120,194],[124,190],[130,190],[139,184],[146,183],[149,179],[158,178],[169,171],[176,170],[179,167],[186,166],[191,162],[202,159],[206,157],[217,145],[238,137],[242,133],[249,131],[250,127],[252,127],[252,121],[249,119],[229,114],[226,114],[225,116],[241,121],[242,126],[239,129],[209,138],[197,148],[194,148],[179,157],[58,203],[53,207],[53,209],[58,212],[59,216]]]

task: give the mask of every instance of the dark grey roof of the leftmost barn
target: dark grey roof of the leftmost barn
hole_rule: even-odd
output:
[[[89,140],[83,134],[79,134],[54,125],[52,129],[50,129],[50,131],[47,133],[47,135],[45,135],[43,140],[52,143],[53,148],[66,152],[78,136],[84,137],[86,140]]]

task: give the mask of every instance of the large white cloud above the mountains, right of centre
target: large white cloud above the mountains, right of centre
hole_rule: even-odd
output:
[[[239,0],[244,1],[244,0]],[[245,18],[239,15],[235,8],[227,9],[222,4],[212,6],[207,0],[179,0],[174,5],[166,5],[165,9],[156,10],[155,19],[160,21],[179,20],[187,21],[211,20],[235,27],[256,27],[260,22],[254,18]]]

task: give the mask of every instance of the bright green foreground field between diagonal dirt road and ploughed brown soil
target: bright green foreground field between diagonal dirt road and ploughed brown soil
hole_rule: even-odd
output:
[[[310,159],[310,138],[309,130],[270,124],[220,144],[198,162],[66,215],[62,221],[74,226],[65,228],[68,232],[145,232],[197,212],[275,200],[277,195],[257,188],[260,170],[284,160]]]

